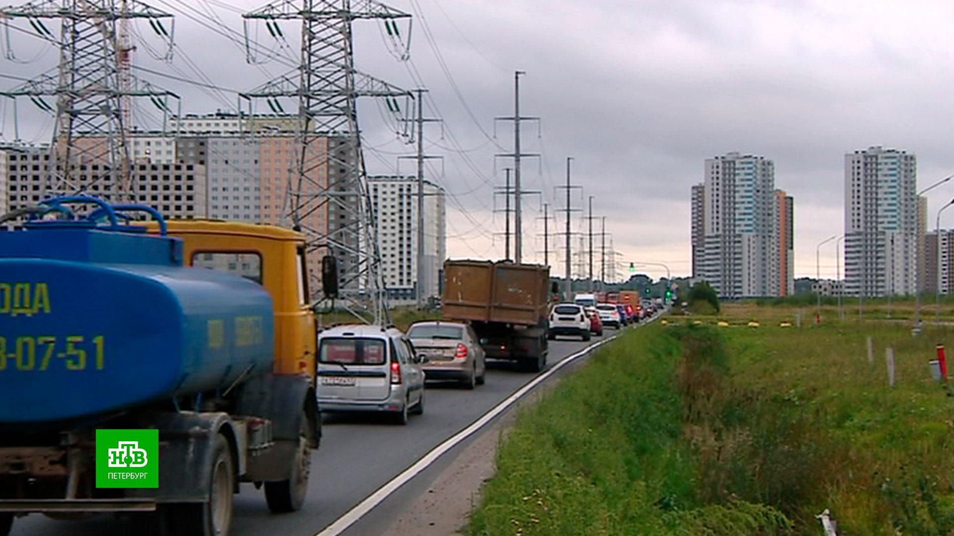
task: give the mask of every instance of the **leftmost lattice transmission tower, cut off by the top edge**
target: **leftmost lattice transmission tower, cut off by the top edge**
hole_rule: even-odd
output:
[[[107,199],[135,200],[129,151],[132,97],[151,97],[168,110],[168,97],[178,96],[132,75],[126,27],[132,19],[148,19],[171,50],[172,31],[161,20],[172,16],[137,0],[41,0],[0,10],[5,26],[8,19],[25,18],[37,36],[60,52],[58,68],[0,92],[14,99],[28,97],[55,116],[46,195],[74,194],[99,182]],[[61,20],[58,36],[43,24],[45,19]],[[55,107],[46,96],[56,99]]]

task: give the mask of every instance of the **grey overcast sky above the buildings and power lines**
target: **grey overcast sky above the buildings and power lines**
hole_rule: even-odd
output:
[[[135,64],[191,80],[188,60],[226,90],[249,90],[287,68],[277,61],[249,66],[241,47],[239,10],[248,0],[157,0],[176,14],[176,56],[156,61],[162,43],[137,23],[145,44]],[[630,261],[661,261],[675,275],[690,272],[690,187],[702,180],[703,161],[730,151],[775,161],[776,187],[795,196],[796,276],[815,275],[816,245],[842,232],[843,156],[872,145],[918,156],[919,186],[954,173],[950,120],[954,3],[945,1],[728,1],[728,0],[394,0],[414,14],[410,60],[395,57],[376,21],[355,22],[358,69],[396,86],[430,91],[426,113],[445,120],[428,126],[430,178],[447,199],[447,246],[454,258],[503,255],[503,159],[512,149],[512,126],[493,117],[513,112],[513,71],[522,78],[525,188],[562,207],[554,191],[564,180],[565,158],[574,157],[574,207],[594,196],[594,214],[607,217],[615,249]],[[230,40],[212,24],[237,32]],[[19,23],[21,28],[29,25]],[[55,28],[55,26],[52,26]],[[263,26],[259,41],[289,57],[299,29],[284,23],[287,44]],[[402,23],[406,35],[406,23]],[[428,39],[428,34],[430,39]],[[54,66],[56,54],[21,32],[10,35],[21,62],[5,60],[0,72],[32,75]],[[32,41],[32,42],[31,42]],[[146,44],[151,45],[147,47]],[[281,49],[285,47],[285,49]],[[438,53],[446,70],[442,69]],[[260,59],[260,58],[259,58]],[[140,73],[142,74],[142,73]],[[234,107],[235,93],[145,74],[181,93],[189,113]],[[449,77],[448,77],[449,76]],[[451,82],[452,80],[452,82]],[[10,80],[0,81],[13,84]],[[11,139],[10,107],[3,103],[3,134]],[[21,119],[43,140],[39,115],[29,102]],[[148,122],[148,104],[137,116]],[[155,109],[153,115],[155,115]],[[359,104],[365,160],[373,174],[395,173],[397,155],[410,155],[388,125],[386,107]],[[49,123],[47,123],[49,125]],[[24,127],[24,130],[28,130]],[[400,171],[412,173],[413,162]],[[930,194],[930,226],[937,207],[954,196],[954,181]],[[543,259],[541,200],[525,201],[525,258]],[[573,215],[574,231],[584,229]],[[947,218],[951,219],[947,219]],[[558,224],[563,228],[562,216]],[[954,210],[943,225],[954,225]],[[552,223],[551,223],[552,225]],[[551,227],[551,231],[553,231]],[[562,240],[562,238],[561,238]],[[574,238],[573,247],[578,242]],[[561,253],[562,255],[562,253]],[[562,274],[562,258],[550,263]],[[834,245],[825,246],[822,276],[835,275]],[[640,267],[657,277],[655,267]]]

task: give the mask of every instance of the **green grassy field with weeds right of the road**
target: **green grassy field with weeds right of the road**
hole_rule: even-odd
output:
[[[926,364],[938,341],[954,333],[630,332],[518,416],[467,530],[817,535],[829,508],[840,534],[952,533],[954,399]]]

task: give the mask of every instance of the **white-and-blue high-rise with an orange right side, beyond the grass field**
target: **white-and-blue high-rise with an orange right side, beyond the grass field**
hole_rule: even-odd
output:
[[[708,158],[701,186],[701,204],[695,203],[698,189],[693,189],[693,221],[703,224],[701,252],[694,247],[694,275],[708,281],[721,298],[779,296],[772,160],[739,153]],[[694,246],[697,239],[696,233]]]

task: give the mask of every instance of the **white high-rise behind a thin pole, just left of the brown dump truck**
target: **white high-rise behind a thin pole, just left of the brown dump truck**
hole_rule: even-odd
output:
[[[417,299],[417,281],[421,281],[425,299],[440,296],[440,281],[446,258],[444,189],[425,181],[425,273],[419,277],[417,177],[372,176],[368,178],[368,186],[378,222],[384,287],[388,297],[399,302]]]

